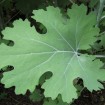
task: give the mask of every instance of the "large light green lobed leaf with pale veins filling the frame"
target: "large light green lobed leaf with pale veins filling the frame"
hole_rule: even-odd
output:
[[[15,86],[16,94],[25,94],[27,89],[33,92],[40,77],[50,71],[53,75],[42,88],[45,89],[44,95],[52,99],[58,94],[68,103],[77,98],[72,83],[77,77],[84,80],[84,86],[89,90],[102,88],[97,82],[97,79],[105,79],[105,71],[100,70],[102,62],[79,52],[90,48],[96,40],[94,36],[99,34],[99,29],[94,27],[96,16],[93,12],[88,15],[86,12],[84,5],[74,4],[68,10],[70,19],[65,20],[58,8],[34,11],[33,18],[47,29],[45,35],[30,27],[28,20],[17,20],[13,23],[14,28],[6,28],[2,32],[4,38],[15,44],[13,47],[0,46],[0,68],[14,66],[13,71],[4,73],[2,83],[5,87]]]

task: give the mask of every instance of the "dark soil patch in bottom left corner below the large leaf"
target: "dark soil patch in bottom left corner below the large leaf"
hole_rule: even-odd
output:
[[[15,95],[14,88],[5,89],[2,84],[0,84],[0,94],[6,93],[4,97],[0,98],[0,105],[42,105],[42,102],[32,102],[28,95]]]

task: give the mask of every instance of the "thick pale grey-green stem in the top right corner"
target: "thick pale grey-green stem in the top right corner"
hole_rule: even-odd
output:
[[[99,25],[99,22],[101,20],[102,11],[104,8],[105,0],[100,0],[99,10],[97,14],[97,26]]]

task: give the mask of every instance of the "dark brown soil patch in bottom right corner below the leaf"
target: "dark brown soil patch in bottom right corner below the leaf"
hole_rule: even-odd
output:
[[[105,105],[105,89],[93,90],[91,93],[85,88],[81,96],[71,105]]]

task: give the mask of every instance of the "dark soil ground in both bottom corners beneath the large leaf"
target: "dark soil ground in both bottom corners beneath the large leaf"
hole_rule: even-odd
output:
[[[14,88],[5,89],[0,84],[0,94],[2,93],[7,95],[0,98],[0,105],[43,105],[43,102],[32,102],[28,95],[15,95]],[[105,89],[92,93],[84,89],[81,96],[74,100],[71,105],[105,105]]]

